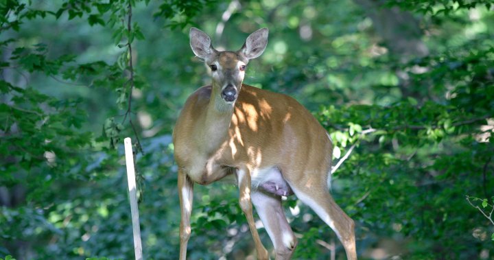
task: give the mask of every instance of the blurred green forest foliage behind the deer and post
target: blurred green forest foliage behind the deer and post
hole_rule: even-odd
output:
[[[217,49],[270,29],[246,84],[304,104],[336,145],[332,193],[361,259],[494,259],[489,0],[1,0],[0,257],[132,259],[123,137],[146,259],[178,258],[170,134]],[[189,259],[255,249],[232,185],[196,185]],[[294,259],[344,259],[290,197]],[[272,250],[261,228],[263,243]]]

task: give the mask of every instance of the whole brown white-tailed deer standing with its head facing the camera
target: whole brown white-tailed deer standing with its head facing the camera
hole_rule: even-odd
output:
[[[180,259],[191,234],[193,183],[207,185],[235,175],[258,259],[268,259],[252,216],[252,204],[276,251],[290,259],[297,241],[281,196],[294,193],[336,232],[348,259],[357,259],[354,222],[329,194],[333,145],[326,130],[287,95],[242,84],[249,60],[268,43],[268,29],[248,36],[239,51],[217,51],[211,39],[191,28],[190,45],[211,68],[213,82],[192,93],[173,134],[178,164]]]

